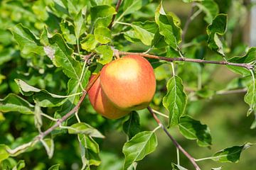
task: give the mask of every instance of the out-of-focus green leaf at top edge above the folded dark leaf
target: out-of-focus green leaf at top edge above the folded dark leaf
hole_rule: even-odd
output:
[[[207,23],[212,23],[213,18],[217,16],[219,13],[218,4],[216,4],[215,1],[213,0],[207,0],[202,1],[201,3],[196,3],[196,6],[198,6],[199,10],[206,13],[204,20]]]

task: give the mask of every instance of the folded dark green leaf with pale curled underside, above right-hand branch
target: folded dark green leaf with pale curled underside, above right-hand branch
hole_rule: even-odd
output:
[[[208,47],[211,50],[218,52],[218,54],[225,56],[223,51],[223,43],[220,40],[220,36],[225,34],[227,29],[228,17],[227,14],[218,14],[207,27],[208,34]]]

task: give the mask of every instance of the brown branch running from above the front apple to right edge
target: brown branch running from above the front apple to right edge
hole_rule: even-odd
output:
[[[197,62],[197,63],[205,63],[205,64],[220,64],[220,65],[230,65],[235,67],[243,67],[245,69],[253,69],[254,65],[246,64],[246,63],[234,63],[234,62],[227,62],[227,61],[210,61],[210,60],[200,60],[200,59],[191,59],[186,57],[159,57],[156,55],[148,55],[140,52],[121,52],[119,51],[119,55],[140,55],[142,57],[147,57],[151,59],[157,60],[164,60],[167,62]]]

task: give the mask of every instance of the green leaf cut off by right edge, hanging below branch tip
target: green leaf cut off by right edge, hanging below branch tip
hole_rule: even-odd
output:
[[[247,111],[247,116],[250,113],[256,111],[256,82],[252,81],[250,85],[247,87],[247,93],[245,94],[245,103],[247,103],[250,108]]]

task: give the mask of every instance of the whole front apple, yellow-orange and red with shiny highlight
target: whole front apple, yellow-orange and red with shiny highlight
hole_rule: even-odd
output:
[[[154,69],[138,55],[127,55],[106,64],[100,84],[114,106],[125,111],[146,108],[156,91]]]

